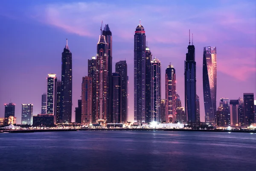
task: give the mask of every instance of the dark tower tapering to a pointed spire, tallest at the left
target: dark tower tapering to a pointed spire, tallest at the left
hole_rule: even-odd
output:
[[[61,58],[61,108],[60,122],[71,123],[72,117],[72,53],[67,45]]]

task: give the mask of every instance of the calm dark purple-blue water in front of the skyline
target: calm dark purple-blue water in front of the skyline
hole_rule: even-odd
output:
[[[4,171],[255,171],[256,133],[0,133]],[[2,169],[0,169],[2,170]]]

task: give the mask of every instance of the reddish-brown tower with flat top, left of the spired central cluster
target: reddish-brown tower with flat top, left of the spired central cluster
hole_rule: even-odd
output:
[[[81,124],[92,122],[92,82],[88,76],[82,79]]]

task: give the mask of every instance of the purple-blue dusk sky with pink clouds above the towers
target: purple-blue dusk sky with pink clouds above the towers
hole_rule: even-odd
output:
[[[87,75],[87,59],[96,56],[100,25],[109,24],[113,35],[113,72],[117,61],[126,59],[129,76],[129,120],[134,113],[134,31],[139,20],[153,57],[164,74],[172,62],[177,75],[177,93],[184,106],[184,60],[189,29],[194,35],[197,62],[197,94],[204,122],[202,87],[203,47],[217,48],[217,107],[219,99],[238,99],[256,94],[256,2],[223,1],[3,1],[0,6],[0,117],[4,105],[16,104],[21,122],[21,104],[33,103],[41,112],[41,94],[47,90],[47,74],[61,75],[61,52],[66,38],[73,54],[73,111],[81,96],[81,81]],[[72,120],[74,121],[74,112]]]

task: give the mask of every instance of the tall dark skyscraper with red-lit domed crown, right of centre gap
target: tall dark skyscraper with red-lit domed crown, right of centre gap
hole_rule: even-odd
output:
[[[134,122],[145,122],[145,46],[146,35],[142,25],[134,34]]]

